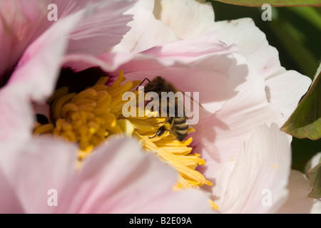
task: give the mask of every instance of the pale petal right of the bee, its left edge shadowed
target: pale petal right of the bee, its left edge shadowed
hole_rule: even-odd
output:
[[[235,160],[259,125],[284,123],[280,108],[267,102],[264,79],[257,77],[242,56],[235,54],[235,58],[238,63],[229,70],[229,86],[235,88],[234,96],[215,115],[203,120],[203,134],[193,134],[195,152],[201,153],[207,162],[200,167],[205,176],[213,175],[223,163]]]

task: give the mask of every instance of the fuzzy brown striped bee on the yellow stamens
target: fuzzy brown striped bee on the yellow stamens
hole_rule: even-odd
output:
[[[143,81],[148,80],[148,78],[145,78]],[[143,81],[141,83],[143,83]],[[156,76],[153,78],[152,81],[148,80],[148,83],[144,87],[144,91],[146,93],[148,92],[155,92],[158,94],[158,98],[161,98],[161,93],[162,92],[181,92],[176,88],[173,83],[170,83],[169,81],[166,81],[164,78],[161,76]],[[183,93],[183,92],[182,92]],[[167,114],[168,114],[168,119],[166,120],[165,124],[161,126],[161,128],[158,128],[156,131],[156,134],[150,138],[155,138],[156,136],[160,137],[163,135],[166,131],[171,131],[175,138],[177,138],[179,141],[183,141],[185,137],[188,135],[188,128],[189,125],[187,123],[187,116],[186,116],[186,111],[184,111],[184,108],[179,108],[182,107],[178,105],[178,103],[181,102],[181,100],[176,100],[175,103],[170,103],[170,101],[167,102]],[[175,105],[175,114],[172,117],[169,117],[169,110],[170,110],[170,105]],[[161,108],[161,100],[160,100],[160,106]],[[201,107],[201,106],[200,106]],[[193,127],[194,128],[194,127]]]

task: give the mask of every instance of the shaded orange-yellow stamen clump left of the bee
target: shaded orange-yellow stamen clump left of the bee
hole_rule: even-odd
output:
[[[108,135],[123,131],[117,125],[117,116],[125,101],[122,95],[136,84],[124,80],[121,72],[112,86],[106,86],[107,76],[80,93],[68,93],[68,88],[58,88],[49,98],[53,123],[36,123],[35,134],[51,133],[71,142],[78,142],[79,158],[86,157],[94,147],[106,140]]]

